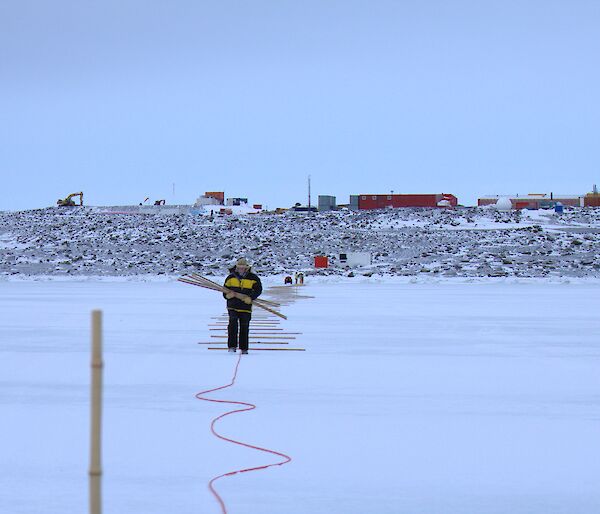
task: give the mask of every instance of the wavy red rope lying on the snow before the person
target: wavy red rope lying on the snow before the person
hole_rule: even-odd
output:
[[[253,444],[244,443],[242,441],[236,441],[235,439],[230,439],[229,437],[225,437],[225,436],[219,434],[215,430],[215,424],[220,419],[223,419],[224,417],[230,416],[231,414],[235,414],[237,412],[246,412],[246,411],[251,411],[253,409],[256,409],[256,405],[254,405],[253,403],[238,402],[238,401],[234,401],[234,400],[214,400],[212,398],[204,398],[205,394],[214,393],[215,391],[220,391],[221,389],[227,389],[228,387],[231,387],[235,384],[235,379],[237,378],[237,372],[238,372],[238,368],[240,367],[241,360],[242,360],[242,355],[240,354],[240,356],[238,357],[237,363],[235,365],[233,377],[231,378],[231,382],[229,382],[229,384],[226,384],[226,385],[223,385],[220,387],[215,387],[214,389],[208,389],[207,391],[201,391],[198,394],[196,394],[196,398],[198,398],[198,400],[204,400],[207,402],[228,403],[231,405],[243,405],[244,408],[242,408],[242,409],[234,409],[234,410],[225,412],[224,414],[221,414],[220,416],[217,416],[216,418],[214,418],[210,423],[210,430],[213,433],[213,435],[215,435],[219,439],[222,439],[223,441],[227,441],[227,442],[230,442],[233,444],[238,444],[240,446],[244,446],[246,448],[251,448],[253,450],[270,453],[272,455],[277,455],[278,457],[282,457],[283,460],[281,462],[274,462],[272,464],[266,464],[264,466],[256,466],[256,467],[252,467],[252,468],[237,469],[235,471],[229,471],[227,473],[223,473],[222,475],[218,475],[218,476],[212,478],[210,480],[210,482],[208,483],[208,488],[210,489],[210,492],[213,494],[213,496],[219,502],[219,505],[221,506],[221,512],[223,514],[227,514],[227,508],[225,507],[225,502],[223,501],[221,496],[219,496],[219,493],[214,488],[214,483],[217,480],[219,480],[220,478],[223,478],[223,477],[237,475],[238,473],[247,473],[248,471],[257,471],[259,469],[267,469],[267,468],[271,468],[273,466],[282,466],[283,464],[287,464],[288,462],[290,462],[292,460],[292,458],[289,455],[286,455],[285,453],[276,452],[275,450],[269,450],[268,448],[262,448],[260,446],[255,446]]]

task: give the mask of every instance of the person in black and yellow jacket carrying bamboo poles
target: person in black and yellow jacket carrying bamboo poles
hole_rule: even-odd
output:
[[[250,263],[244,258],[238,259],[229,271],[223,284],[230,290],[229,293],[223,293],[227,299],[229,313],[227,347],[230,352],[235,352],[239,344],[242,353],[248,353],[252,301],[262,293],[262,283],[260,278],[250,271]]]

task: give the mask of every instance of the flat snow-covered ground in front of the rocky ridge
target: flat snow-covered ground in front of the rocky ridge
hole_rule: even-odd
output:
[[[281,327],[306,352],[251,350],[212,395],[257,405],[223,434],[292,458],[219,480],[230,514],[600,511],[596,281],[315,277],[300,292]],[[0,282],[0,512],[86,512],[93,308],[105,512],[219,513],[212,477],[273,461],[215,438],[227,409],[195,398],[238,359],[197,344],[222,299],[85,279]]]

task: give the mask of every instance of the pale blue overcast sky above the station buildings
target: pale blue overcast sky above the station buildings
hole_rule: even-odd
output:
[[[0,0],[0,210],[585,193],[599,55],[598,0]]]

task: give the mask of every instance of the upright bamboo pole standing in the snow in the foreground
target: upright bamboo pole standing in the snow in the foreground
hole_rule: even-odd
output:
[[[90,438],[90,514],[100,514],[102,428],[102,311],[92,311],[92,409]]]

